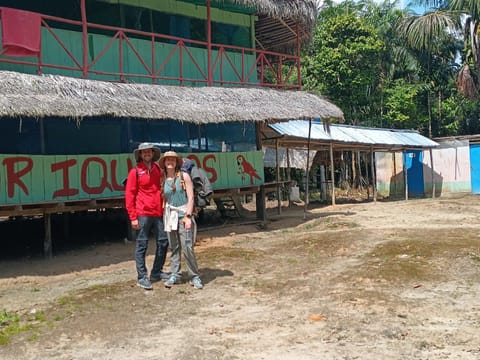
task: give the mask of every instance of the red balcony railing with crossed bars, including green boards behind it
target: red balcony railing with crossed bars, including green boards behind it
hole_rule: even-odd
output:
[[[40,52],[21,58],[0,52],[0,68],[119,82],[301,87],[296,55],[39,15]]]

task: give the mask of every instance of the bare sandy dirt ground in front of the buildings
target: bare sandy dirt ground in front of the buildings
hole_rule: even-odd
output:
[[[479,200],[272,208],[204,228],[203,290],[138,288],[123,239],[4,260],[0,309],[30,326],[0,358],[480,359]]]

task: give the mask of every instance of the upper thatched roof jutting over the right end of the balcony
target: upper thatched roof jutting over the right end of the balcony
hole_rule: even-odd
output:
[[[318,8],[315,0],[227,0],[235,4],[255,7],[257,48],[284,51],[295,50],[296,25],[300,40],[310,41],[315,27]]]

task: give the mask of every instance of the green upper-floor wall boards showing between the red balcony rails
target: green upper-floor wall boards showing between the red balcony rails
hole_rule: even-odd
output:
[[[82,34],[75,31],[69,30],[60,30],[55,29],[55,34],[59,39],[66,45],[67,49],[73,54],[74,58],[81,64],[82,63]],[[105,35],[90,34],[88,36],[89,44],[89,62],[92,62],[107,46],[110,41],[110,37]],[[131,43],[140,53],[143,61],[151,66],[151,42],[141,39],[130,39]],[[168,43],[155,43],[155,69],[159,69],[162,63],[165,61],[166,57],[172,49],[174,48],[173,44]],[[204,75],[207,74],[207,51],[201,48],[189,47],[189,51],[192,54],[192,57],[195,59],[197,64],[202,69]],[[215,59],[217,56],[217,51],[212,52],[212,59]],[[228,52],[234,66],[238,69],[237,71],[241,73],[242,57],[240,53]],[[18,60],[33,61],[32,58],[16,58]],[[74,61],[68,56],[66,51],[62,46],[54,39],[54,37],[45,29],[42,28],[42,63],[44,64],[61,64],[65,66],[76,66]],[[245,57],[245,67],[250,69],[255,63],[254,55],[246,55]],[[148,75],[145,67],[142,65],[138,57],[135,55],[134,51],[128,47],[126,42],[123,42],[123,65],[124,73],[134,73],[141,75]],[[9,64],[1,63],[0,68],[2,70],[11,70],[22,73],[35,74],[37,72],[36,67],[27,66],[22,64]],[[92,70],[95,71],[110,71],[110,72],[119,72],[119,42],[115,41],[114,44],[106,51],[106,53],[99,59],[99,61],[92,67]],[[71,77],[81,76],[81,71],[73,70],[62,70],[54,69],[50,67],[43,67],[43,73],[55,74],[55,75],[64,75]],[[183,78],[187,79],[202,79],[200,71],[194,65],[194,61],[187,55],[186,51],[183,50]],[[164,70],[160,75],[167,77],[179,77],[180,76],[180,50],[176,49],[173,53],[173,56],[169,60],[168,64],[165,66]],[[236,81],[239,82],[237,75],[233,71],[233,67],[228,61],[223,62],[223,80],[224,81]],[[247,74],[245,73],[245,76]],[[89,74],[90,79],[96,80],[114,80],[112,76],[107,75],[97,75]],[[216,71],[213,74],[214,80],[221,80],[220,68],[217,67]],[[118,80],[118,78],[116,79]],[[129,81],[132,82],[143,82],[151,83],[151,80],[148,78],[141,77],[128,77]],[[253,74],[248,79],[249,82],[257,82],[256,71],[253,71]],[[178,81],[170,80],[159,80],[160,84],[178,84]],[[204,83],[196,82],[184,82],[186,86],[195,86],[195,85],[205,85]]]

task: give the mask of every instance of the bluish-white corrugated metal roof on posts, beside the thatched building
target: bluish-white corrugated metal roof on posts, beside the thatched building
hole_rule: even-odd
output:
[[[308,139],[308,120],[292,120],[269,124],[282,136]],[[439,144],[414,130],[369,128],[312,121],[310,139],[316,142],[345,143],[374,148],[431,148]]]

